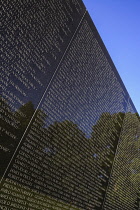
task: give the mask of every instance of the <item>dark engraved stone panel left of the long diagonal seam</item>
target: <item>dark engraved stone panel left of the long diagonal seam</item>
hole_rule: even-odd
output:
[[[78,1],[3,1],[0,176],[84,15]]]

